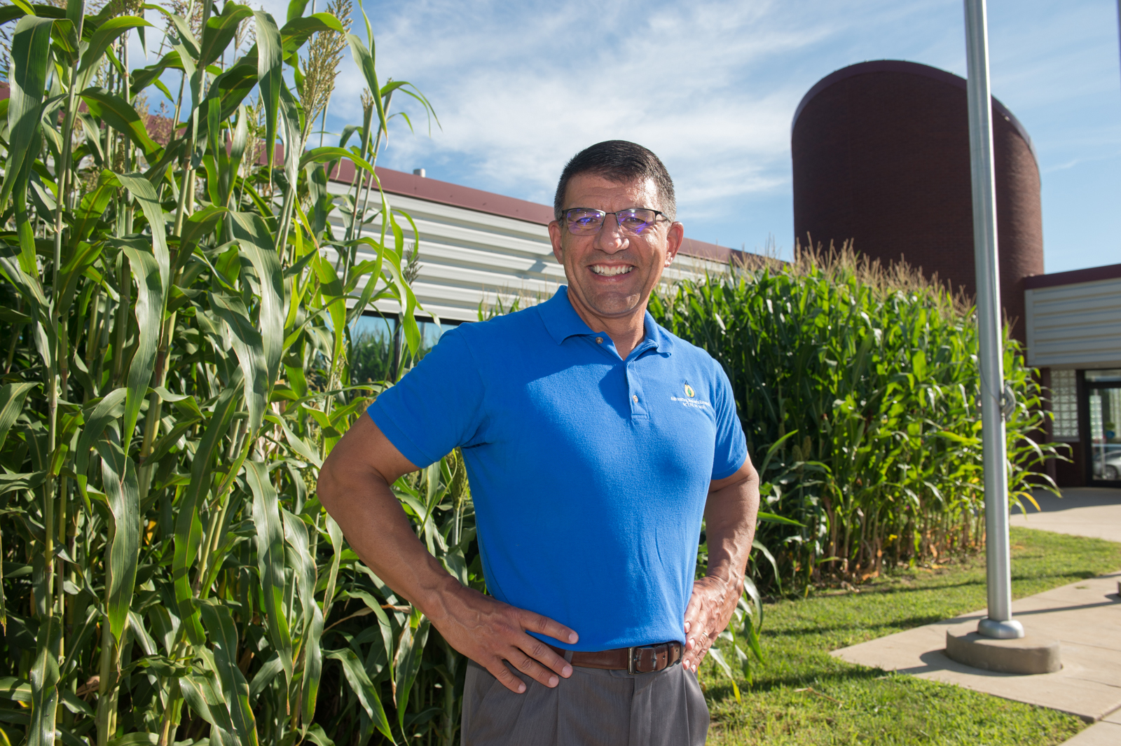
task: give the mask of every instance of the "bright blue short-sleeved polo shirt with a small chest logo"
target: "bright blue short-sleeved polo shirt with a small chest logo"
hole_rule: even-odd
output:
[[[560,647],[685,641],[708,483],[747,458],[724,371],[645,324],[621,360],[562,287],[447,332],[368,410],[419,467],[463,447],[487,587],[580,634]]]

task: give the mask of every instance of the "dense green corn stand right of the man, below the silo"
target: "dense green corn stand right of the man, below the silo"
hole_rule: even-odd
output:
[[[770,513],[754,561],[768,559],[760,577],[772,569],[777,589],[980,545],[978,334],[961,298],[906,267],[803,252],[680,282],[650,311],[728,372]],[[1032,439],[1041,391],[1015,341],[1004,374],[1016,503],[1055,451]]]

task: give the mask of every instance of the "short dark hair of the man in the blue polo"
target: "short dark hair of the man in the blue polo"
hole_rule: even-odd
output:
[[[599,174],[619,184],[654,179],[658,189],[658,206],[666,217],[677,220],[677,198],[674,196],[674,179],[665,164],[650,150],[627,140],[605,140],[584,148],[568,161],[560,171],[557,194],[553,199],[553,214],[560,220],[564,209],[565,190],[572,177],[580,174]],[[577,205],[578,206],[578,205]]]

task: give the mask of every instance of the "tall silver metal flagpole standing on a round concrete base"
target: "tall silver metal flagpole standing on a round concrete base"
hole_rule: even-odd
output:
[[[1008,454],[1001,349],[1000,282],[997,262],[997,188],[992,161],[992,99],[989,93],[989,29],[984,0],[965,0],[969,59],[970,170],[973,176],[973,254],[976,262],[981,363],[981,442],[984,451],[985,557],[989,616],[978,632],[1001,640],[1022,637],[1012,618],[1012,576],[1008,545]]]

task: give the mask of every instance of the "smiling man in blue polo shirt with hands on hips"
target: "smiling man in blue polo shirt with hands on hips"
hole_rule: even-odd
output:
[[[675,208],[646,148],[578,153],[549,224],[567,287],[445,334],[324,464],[351,547],[471,659],[465,745],[705,740],[696,670],[742,594],[759,492],[728,377],[646,311],[684,236]],[[425,550],[389,487],[456,446],[490,596]]]

